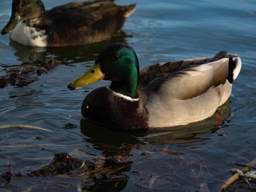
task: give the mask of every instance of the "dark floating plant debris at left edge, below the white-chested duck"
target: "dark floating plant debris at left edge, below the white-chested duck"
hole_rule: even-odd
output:
[[[39,66],[34,65],[22,65],[7,67],[4,70],[6,74],[0,76],[0,88],[6,87],[8,84],[25,86],[32,83],[36,76],[40,76],[43,73],[48,73],[50,69],[54,69],[56,65],[61,64],[58,60],[49,57],[44,63],[39,64]]]

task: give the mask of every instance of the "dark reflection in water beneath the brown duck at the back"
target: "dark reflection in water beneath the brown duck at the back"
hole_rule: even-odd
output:
[[[18,42],[11,41],[9,45],[15,49],[14,55],[22,64],[39,64],[45,60],[49,55],[54,55],[56,59],[63,64],[82,63],[85,61],[95,60],[95,54],[98,54],[102,47],[114,43],[127,43],[126,38],[131,37],[121,31],[117,36],[109,40],[96,42],[88,45],[80,45],[70,47],[29,47]]]

